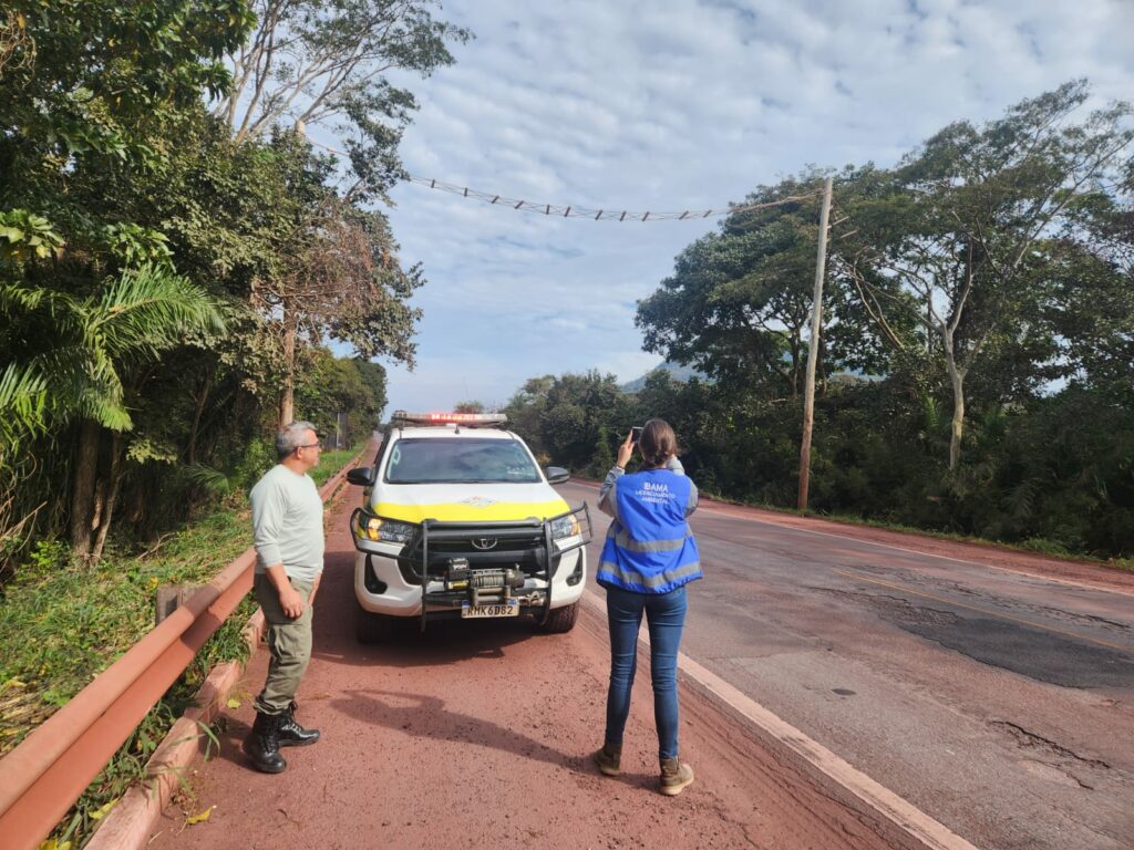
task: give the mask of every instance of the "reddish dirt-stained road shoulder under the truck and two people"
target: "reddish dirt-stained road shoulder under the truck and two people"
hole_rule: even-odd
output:
[[[328,510],[315,648],[297,697],[301,722],[321,729],[322,739],[286,749],[281,774],[248,766],[240,741],[268,661],[257,652],[218,723],[219,753],[202,737],[210,759],[179,773],[181,792],[135,847],[921,847],[892,818],[848,800],[829,776],[801,770],[688,687],[680,688],[680,742],[696,781],[663,797],[644,673],[621,775],[601,775],[591,758],[602,741],[609,673],[601,605],[584,605],[566,635],[538,634],[527,618],[455,620],[431,623],[424,635],[407,623],[389,641],[359,645],[347,524],[357,499],[348,488]],[[640,670],[648,668],[642,658]]]

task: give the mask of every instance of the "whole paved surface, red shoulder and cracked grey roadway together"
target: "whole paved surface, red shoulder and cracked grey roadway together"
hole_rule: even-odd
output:
[[[593,564],[596,488],[560,490],[591,503]],[[689,592],[691,658],[976,847],[1134,847],[1134,575],[711,502],[693,527],[706,577]],[[327,739],[254,774],[236,753],[251,712],[231,709],[181,800],[215,805],[210,821],[185,828],[172,807],[151,847],[896,845],[685,690],[697,782],[661,798],[641,677],[625,776],[599,776],[600,620],[362,648],[345,535],[335,546],[301,692]]]

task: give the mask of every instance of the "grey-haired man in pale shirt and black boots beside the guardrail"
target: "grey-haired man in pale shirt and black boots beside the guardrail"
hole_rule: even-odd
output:
[[[295,720],[295,692],[311,660],[312,605],[323,573],[323,501],[307,475],[319,464],[319,451],[310,422],[285,426],[276,434],[279,464],[252,488],[253,589],[268,622],[271,660],[244,751],[264,773],[287,767],[280,747],[319,740],[318,730]]]

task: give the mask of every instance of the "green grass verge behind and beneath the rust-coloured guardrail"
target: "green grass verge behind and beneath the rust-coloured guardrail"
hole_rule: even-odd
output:
[[[312,477],[322,485],[357,451],[327,452]],[[206,584],[249,545],[244,494],[155,550],[133,556],[111,551],[94,569],[71,564],[64,545],[39,544],[0,602],[0,756],[153,628],[158,587]],[[59,824],[52,835],[58,848],[82,847],[107,807],[145,777],[146,760],[209,671],[246,658],[240,631],[255,607],[249,594],[201,648]]]

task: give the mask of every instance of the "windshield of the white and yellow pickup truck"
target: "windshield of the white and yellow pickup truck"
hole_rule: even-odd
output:
[[[540,481],[532,458],[510,440],[399,440],[386,465],[390,484],[485,484]]]

